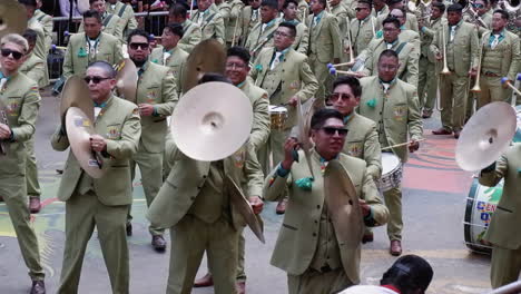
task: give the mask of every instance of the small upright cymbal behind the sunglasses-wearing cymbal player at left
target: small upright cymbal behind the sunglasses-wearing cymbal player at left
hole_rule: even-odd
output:
[[[136,102],[137,82],[139,77],[134,61],[130,58],[126,58],[119,62],[116,70],[118,71],[118,75],[116,76],[116,88],[118,89],[120,98]]]

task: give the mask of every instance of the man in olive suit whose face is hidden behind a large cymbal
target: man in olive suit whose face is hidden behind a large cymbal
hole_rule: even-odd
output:
[[[226,79],[214,75],[206,74],[201,81]],[[230,203],[230,190],[224,179],[229,176],[245,192],[254,213],[262,212],[263,173],[253,145],[246,143],[222,160],[199,161],[184,155],[168,138],[167,158],[175,164],[147,214],[153,224],[170,228],[167,293],[191,293],[205,252],[215,293],[237,293],[243,220]]]

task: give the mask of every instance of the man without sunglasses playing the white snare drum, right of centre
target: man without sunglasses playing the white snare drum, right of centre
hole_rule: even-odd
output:
[[[392,153],[404,164],[409,157],[407,147],[411,153],[420,148],[417,140],[422,138],[423,126],[416,88],[397,78],[399,63],[399,57],[394,50],[387,49],[382,52],[379,59],[379,75],[360,80],[362,99],[358,114],[377,124],[382,148],[412,141],[409,146],[392,149]],[[403,228],[401,186],[392,187],[383,194],[390,212],[387,224],[390,252],[392,255],[400,255]]]

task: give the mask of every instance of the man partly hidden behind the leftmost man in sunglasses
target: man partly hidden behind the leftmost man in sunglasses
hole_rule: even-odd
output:
[[[36,31],[28,29],[23,32],[23,38],[26,38],[29,49],[23,57],[23,65],[19,68],[19,72],[26,75],[28,78],[32,79],[39,87],[46,77],[46,62],[41,58],[37,57],[32,50],[35,49],[38,35]],[[26,159],[26,179],[27,179],[27,195],[29,196],[29,210],[31,214],[37,214],[41,209],[40,205],[40,183],[38,182],[38,166],[35,155],[35,138],[31,137],[26,141],[27,148],[27,159]]]

